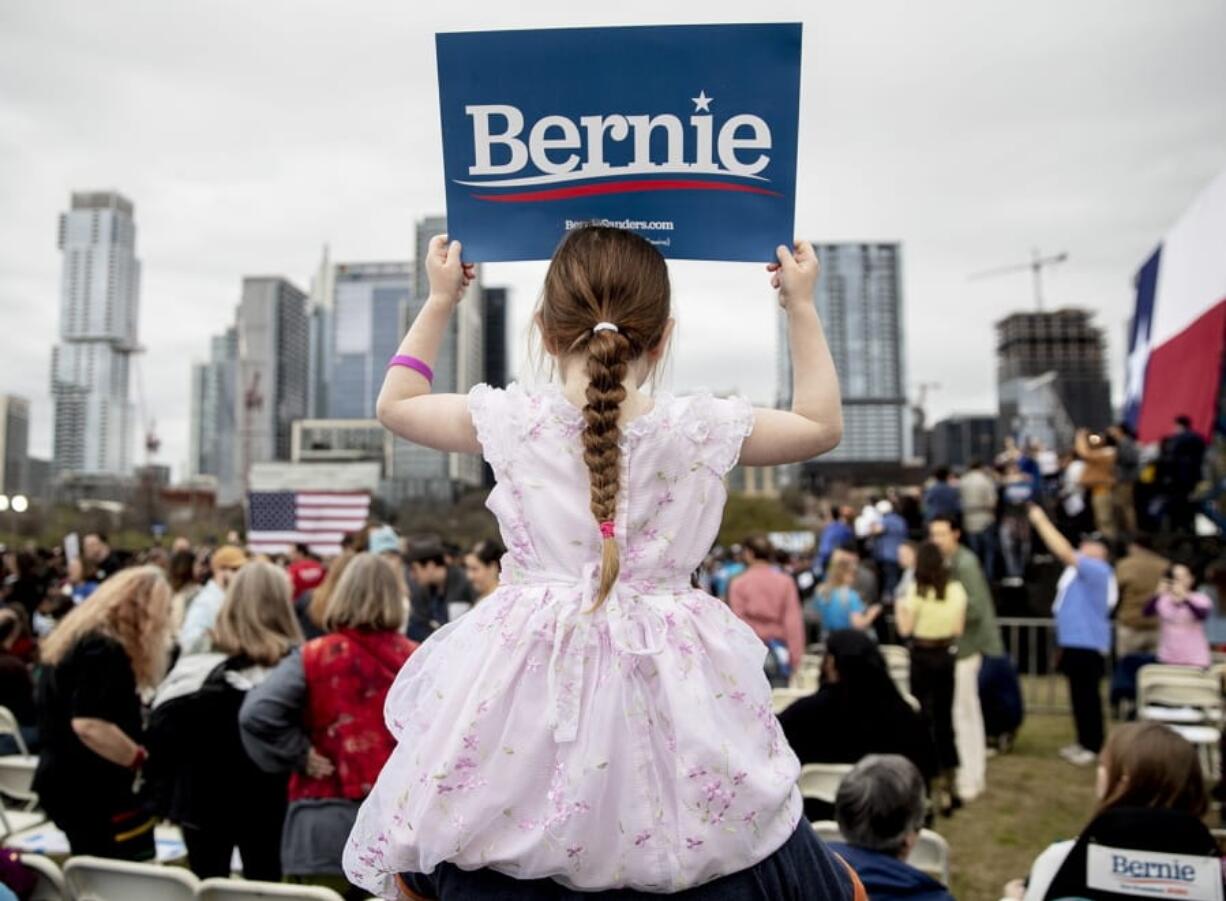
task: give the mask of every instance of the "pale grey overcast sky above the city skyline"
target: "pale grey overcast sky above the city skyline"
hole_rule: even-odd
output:
[[[992,322],[1068,251],[1048,304],[1098,313],[1121,392],[1132,276],[1226,167],[1221,0],[1000,2],[59,2],[0,0],[0,391],[50,450],[56,217],[72,190],[136,205],[146,407],[188,452],[188,385],[244,275],[306,288],[336,261],[405,259],[443,210],[433,36],[569,25],[803,21],[797,229],[904,245],[908,381],[931,412],[988,411]],[[459,10],[459,7],[457,7]],[[580,11],[584,10],[584,11]],[[590,12],[586,10],[591,10]],[[695,86],[699,88],[701,86]],[[543,265],[512,289],[515,358]],[[672,265],[676,389],[775,395],[775,311],[748,264]],[[134,396],[136,385],[132,386]]]

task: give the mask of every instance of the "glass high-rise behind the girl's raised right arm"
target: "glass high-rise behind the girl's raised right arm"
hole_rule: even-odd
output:
[[[819,463],[902,463],[911,457],[902,264],[899,244],[817,244],[814,295],[842,389],[842,444]],[[779,320],[779,406],[792,403],[787,320]]]

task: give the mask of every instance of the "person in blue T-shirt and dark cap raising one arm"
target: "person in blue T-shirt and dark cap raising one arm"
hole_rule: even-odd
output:
[[[1030,505],[1030,522],[1047,549],[1064,564],[1052,613],[1060,672],[1069,683],[1076,744],[1060,749],[1070,764],[1089,766],[1102,750],[1102,677],[1111,652],[1111,610],[1119,599],[1107,543],[1098,533],[1081,538],[1076,549],[1047,519],[1037,504]]]

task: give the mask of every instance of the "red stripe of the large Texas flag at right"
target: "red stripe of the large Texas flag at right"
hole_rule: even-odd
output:
[[[1141,441],[1160,441],[1187,416],[1203,438],[1214,430],[1214,411],[1226,351],[1226,298],[1192,325],[1150,351],[1137,431]]]

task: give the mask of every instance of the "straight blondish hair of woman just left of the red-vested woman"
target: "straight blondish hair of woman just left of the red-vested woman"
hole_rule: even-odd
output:
[[[213,626],[213,650],[271,667],[303,642],[289,577],[264,560],[234,574]]]

